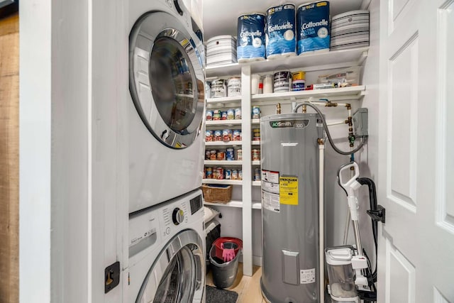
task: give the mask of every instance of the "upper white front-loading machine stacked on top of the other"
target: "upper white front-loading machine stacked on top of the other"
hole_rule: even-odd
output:
[[[205,79],[201,32],[184,5],[129,3],[131,213],[201,186]]]

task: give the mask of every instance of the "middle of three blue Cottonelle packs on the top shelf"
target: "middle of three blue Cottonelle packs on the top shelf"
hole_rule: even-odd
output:
[[[267,59],[295,55],[295,6],[283,4],[270,7],[266,23]]]

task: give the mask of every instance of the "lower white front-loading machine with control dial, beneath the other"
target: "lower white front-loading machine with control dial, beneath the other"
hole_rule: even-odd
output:
[[[128,302],[205,302],[204,252],[199,189],[131,214]]]

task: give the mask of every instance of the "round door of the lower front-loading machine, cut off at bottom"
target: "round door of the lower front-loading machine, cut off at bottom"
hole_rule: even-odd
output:
[[[193,230],[172,238],[148,270],[135,302],[201,302],[205,289],[203,250],[203,242]]]

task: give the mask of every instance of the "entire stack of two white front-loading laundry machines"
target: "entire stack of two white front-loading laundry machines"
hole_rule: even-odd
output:
[[[204,45],[177,0],[129,2],[127,302],[204,302]]]

